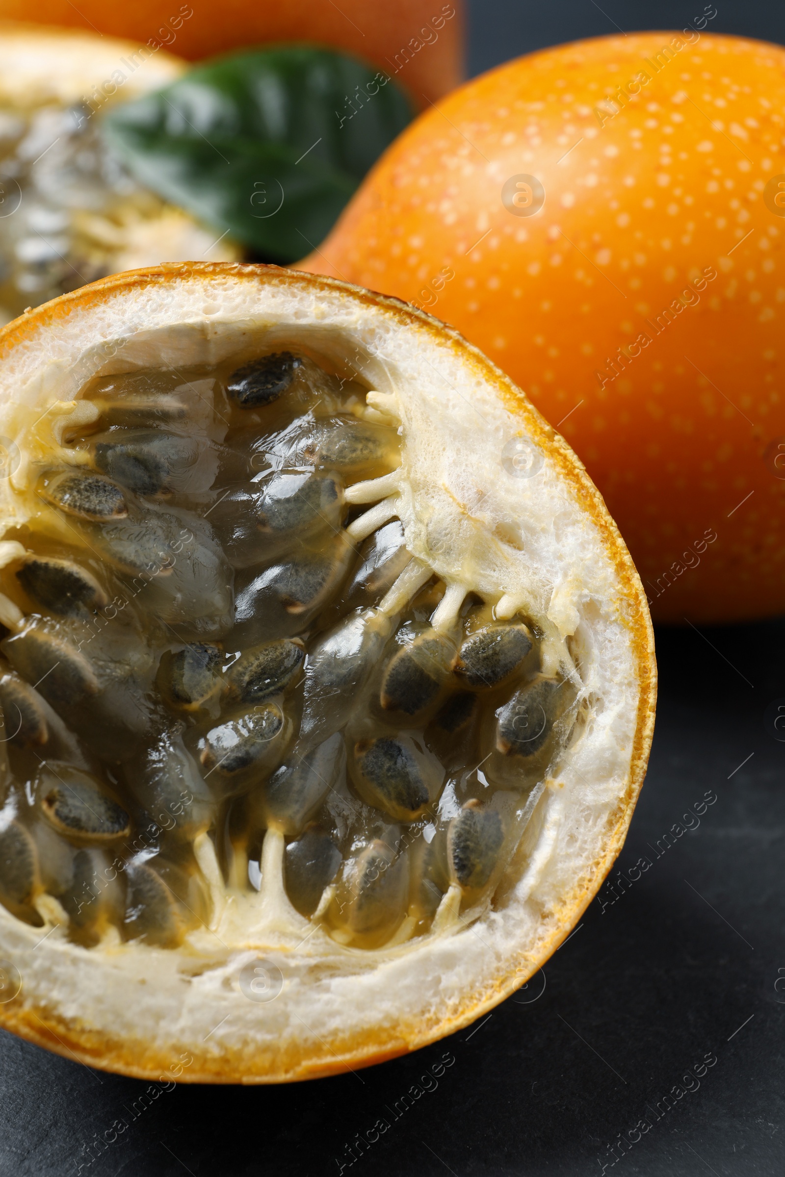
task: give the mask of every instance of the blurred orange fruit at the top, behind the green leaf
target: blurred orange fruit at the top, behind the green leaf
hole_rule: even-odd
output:
[[[245,45],[317,41],[393,74],[420,108],[464,78],[463,11],[463,0],[341,0],[338,6],[328,0],[38,0],[33,6],[0,0],[0,20],[92,29],[141,44],[154,38],[192,61]]]

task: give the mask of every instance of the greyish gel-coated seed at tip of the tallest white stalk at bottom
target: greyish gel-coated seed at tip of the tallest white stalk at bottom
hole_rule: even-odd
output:
[[[284,833],[299,833],[335,783],[342,763],[344,737],[340,732],[307,756],[293,757],[265,785],[261,809],[268,824]]]

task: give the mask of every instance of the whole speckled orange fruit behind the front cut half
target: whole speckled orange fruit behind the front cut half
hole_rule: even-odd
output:
[[[785,51],[759,41],[535,53],[424,114],[302,262],[419,302],[525,388],[659,620],[785,609],[784,111]],[[503,204],[520,174],[534,215]]]

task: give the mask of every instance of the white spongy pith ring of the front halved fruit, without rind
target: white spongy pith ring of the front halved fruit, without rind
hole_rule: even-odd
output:
[[[25,490],[24,455],[84,417],[75,398],[92,377],[217,364],[255,339],[265,351],[300,341],[360,372],[378,390],[373,410],[403,427],[400,467],[347,493],[370,508],[352,525],[357,538],[364,521],[379,526],[394,508],[413,556],[382,609],[399,609],[433,572],[447,586],[437,626],[450,624],[470,591],[505,616],[521,607],[545,630],[546,672],[574,676],[579,661],[587,704],[535,798],[493,906],[471,924],[457,918],[448,896],[428,936],[378,951],[346,949],[288,903],[284,839],[274,831],[265,838],[258,893],[226,890],[202,839],[213,926],[191,932],[179,950],[118,938],[82,949],[60,927],[31,927],[0,907],[0,957],[19,969],[21,1000],[173,1060],[185,1050],[233,1052],[250,1079],[275,1071],[293,1044],[325,1066],[338,1058],[331,1043],[364,1030],[379,1038],[381,1029],[380,1038],[403,1046],[418,1028],[446,1023],[467,993],[481,1004],[505,970],[523,982],[553,936],[560,903],[604,857],[628,787],[639,704],[627,605],[599,530],[545,450],[534,477],[505,467],[501,452],[526,437],[525,418],[505,406],[483,365],[424,319],[404,325],[394,307],[291,278],[186,275],[109,291],[20,341],[0,368],[0,434],[22,455],[13,487]],[[2,484],[0,540],[20,521],[24,499],[12,485]],[[282,973],[274,1000],[250,1000],[239,988],[239,971],[257,957]]]

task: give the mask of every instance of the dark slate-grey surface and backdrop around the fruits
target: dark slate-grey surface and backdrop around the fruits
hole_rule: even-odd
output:
[[[681,26],[704,4],[470,7],[478,73],[614,24]],[[781,0],[717,0],[717,8],[712,32],[785,42]],[[604,1164],[645,1177],[779,1177],[785,743],[766,711],[785,703],[785,623],[663,630],[658,656],[651,766],[611,883],[641,856],[652,866],[625,892],[616,885],[616,902],[606,884],[544,973],[490,1018],[358,1075],[287,1088],[179,1086],[133,1122],[124,1109],[146,1084],[0,1032],[0,1172],[76,1175],[81,1164],[89,1177],[311,1177],[346,1162],[345,1173],[375,1177],[601,1177]],[[717,800],[699,825],[663,851],[663,836],[707,792]],[[434,1086],[427,1076],[445,1053],[454,1062]],[[705,1056],[716,1063],[699,1080],[685,1078]],[[350,1168],[346,1145],[380,1116],[391,1121],[386,1109],[412,1084],[432,1090]],[[696,1090],[654,1112],[677,1084]],[[88,1165],[84,1146],[121,1116],[128,1129]],[[634,1136],[644,1116],[653,1126],[612,1164],[608,1148]]]

